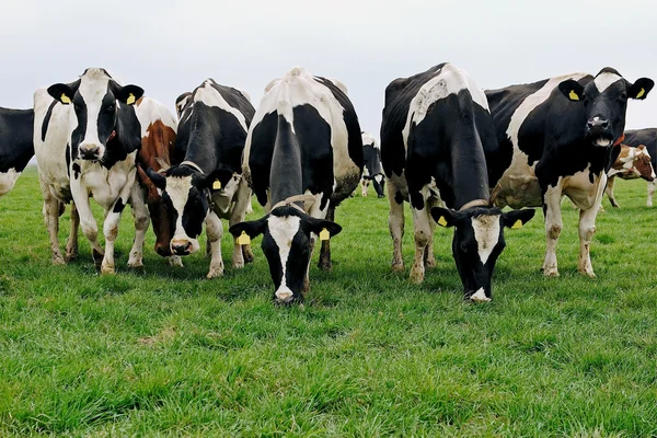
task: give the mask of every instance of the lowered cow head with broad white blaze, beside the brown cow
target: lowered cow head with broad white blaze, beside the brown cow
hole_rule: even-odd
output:
[[[189,255],[198,251],[198,235],[203,231],[210,206],[212,191],[229,189],[238,184],[233,171],[219,169],[204,174],[197,165],[173,166],[163,174],[147,169],[152,183],[162,192],[162,200],[173,223],[170,250],[175,255]]]

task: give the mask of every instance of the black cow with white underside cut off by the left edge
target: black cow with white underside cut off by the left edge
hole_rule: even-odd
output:
[[[0,107],[0,197],[7,195],[34,155],[33,110]]]

